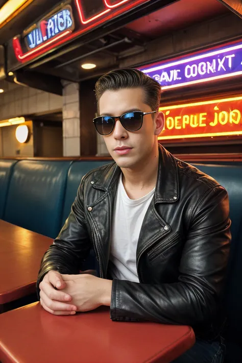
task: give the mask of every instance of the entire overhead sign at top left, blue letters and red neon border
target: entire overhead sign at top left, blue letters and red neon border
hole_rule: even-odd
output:
[[[16,36],[13,38],[12,46],[15,57],[18,62],[28,62],[45,52],[49,52],[50,50],[58,47],[62,43],[97,28],[104,22],[107,22],[108,20],[113,19],[120,14],[124,14],[130,9],[149,1],[150,0],[74,0],[76,7],[75,11],[79,18],[79,29],[77,31],[71,33],[71,27],[66,27],[65,30],[59,31],[60,29],[58,29],[58,26],[55,28],[54,25],[55,35],[53,35],[54,33],[50,30],[51,37],[49,37],[49,34],[47,32],[45,33],[46,23],[40,21],[39,31],[35,30],[35,34],[32,33],[33,30],[31,29],[28,33],[24,32],[22,37]],[[65,7],[65,9],[66,8],[67,7]],[[54,19],[54,24],[56,20],[58,24],[58,12],[55,15],[57,15],[57,19]],[[63,16],[60,16],[60,23],[62,18]],[[63,28],[62,23],[61,27]],[[24,42],[23,38],[25,38],[26,35],[28,36],[30,33],[32,33],[32,38],[27,38],[27,42]],[[44,40],[43,37],[45,36],[46,39]],[[32,48],[30,45],[32,45]]]

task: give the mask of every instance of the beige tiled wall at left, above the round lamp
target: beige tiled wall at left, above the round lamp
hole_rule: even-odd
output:
[[[60,95],[6,81],[4,89],[0,93],[0,120],[62,110]]]

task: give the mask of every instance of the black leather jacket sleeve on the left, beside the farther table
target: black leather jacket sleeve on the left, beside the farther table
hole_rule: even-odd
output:
[[[61,274],[79,274],[82,261],[89,255],[91,242],[83,208],[83,184],[84,178],[78,188],[68,219],[42,258],[37,280],[38,294],[39,284],[47,272],[55,270]]]

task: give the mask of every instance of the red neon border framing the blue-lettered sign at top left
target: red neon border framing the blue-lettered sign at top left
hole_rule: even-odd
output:
[[[23,51],[22,43],[19,36],[16,36],[12,40],[13,50],[17,60],[21,63],[28,62],[45,52],[49,52],[50,50],[56,48],[57,46],[63,44],[64,42],[80,36],[87,31],[90,31],[93,28],[100,26],[102,23],[107,20],[118,16],[119,14],[123,14],[124,12],[140,5],[143,3],[147,3],[150,0],[123,0],[123,1],[110,1],[110,0],[100,0],[100,8],[101,11],[92,15],[88,18],[85,18],[85,3],[90,0],[75,0],[76,10],[79,15],[80,20],[80,29],[74,33],[70,33],[69,31],[56,36],[55,38],[42,43],[37,46],[35,49],[30,51]],[[75,11],[75,10],[74,10]]]

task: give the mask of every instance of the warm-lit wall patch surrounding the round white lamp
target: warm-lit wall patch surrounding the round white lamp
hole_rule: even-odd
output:
[[[33,146],[33,123],[32,121],[26,122],[26,125],[30,130],[30,139],[28,142],[20,143],[15,137],[15,131],[18,125],[6,126],[1,128],[2,133],[2,156],[34,156],[34,146]]]

